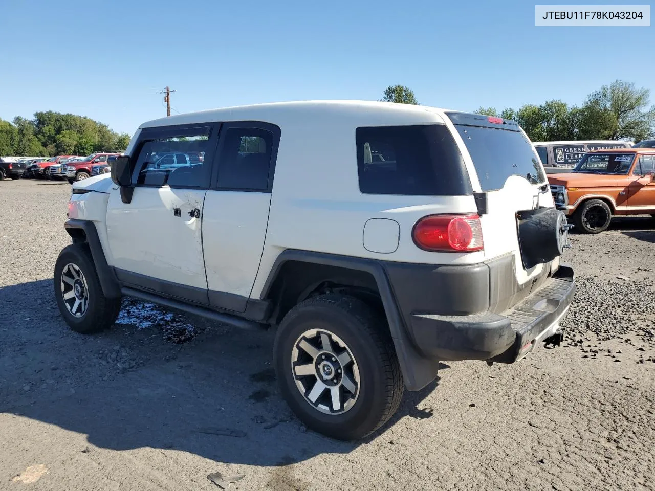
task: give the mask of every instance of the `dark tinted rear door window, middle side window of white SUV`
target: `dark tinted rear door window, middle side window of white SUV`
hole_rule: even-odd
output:
[[[217,159],[219,189],[269,191],[273,143],[272,132],[263,128],[228,128]]]

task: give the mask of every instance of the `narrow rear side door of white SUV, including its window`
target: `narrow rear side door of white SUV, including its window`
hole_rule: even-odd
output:
[[[207,192],[202,244],[210,304],[244,312],[264,247],[280,128],[223,124]],[[207,156],[203,158],[207,161]]]

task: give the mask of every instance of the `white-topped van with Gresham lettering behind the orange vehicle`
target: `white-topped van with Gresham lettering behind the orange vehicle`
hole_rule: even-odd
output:
[[[547,174],[571,172],[584,154],[592,150],[627,149],[631,143],[616,140],[533,141]]]

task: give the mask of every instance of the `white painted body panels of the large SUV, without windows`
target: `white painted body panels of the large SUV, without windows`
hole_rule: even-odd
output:
[[[473,190],[481,191],[470,155],[444,110],[365,101],[275,103],[176,115],[141,128],[246,120],[280,127],[272,193],[137,187],[132,203],[123,204],[108,174],[73,185],[99,191],[73,194],[71,201],[83,209],[80,217],[94,217],[111,266],[257,299],[285,249],[424,264],[476,264],[514,253],[520,283],[542,271],[544,265],[525,270],[521,264],[515,212],[553,206],[548,187],[540,192],[540,185],[510,177],[503,189],[488,192],[489,213],[481,217],[484,249],[472,253],[424,251],[411,231],[426,215],[477,213],[473,196],[360,192],[356,128],[409,124],[445,124]],[[189,219],[196,206],[202,209],[200,219]],[[181,208],[182,219],[174,217],[173,208]]]

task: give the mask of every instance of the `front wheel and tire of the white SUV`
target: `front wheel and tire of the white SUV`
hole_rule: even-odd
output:
[[[121,299],[102,292],[91,251],[86,244],[64,247],[54,266],[54,297],[69,327],[83,334],[97,333],[116,321]]]

